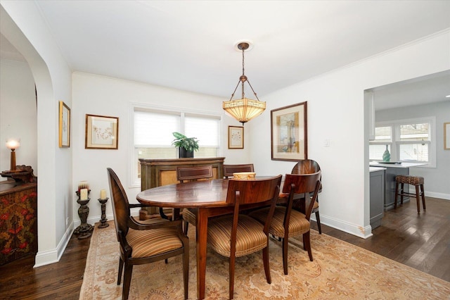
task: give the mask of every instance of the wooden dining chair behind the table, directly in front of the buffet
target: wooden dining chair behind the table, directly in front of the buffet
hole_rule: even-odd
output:
[[[200,165],[195,167],[178,166],[176,167],[176,180],[180,183],[198,181],[198,180],[212,180],[212,165]],[[188,235],[189,223],[195,226],[197,220],[197,208],[184,208],[181,213],[184,220],[184,234]]]

